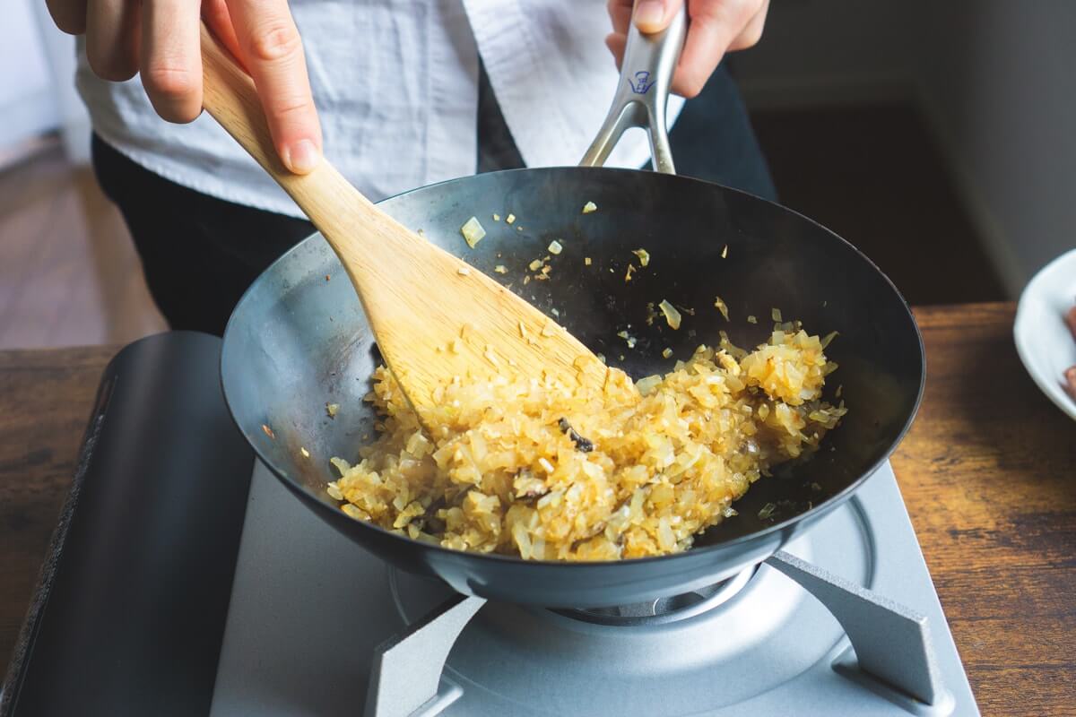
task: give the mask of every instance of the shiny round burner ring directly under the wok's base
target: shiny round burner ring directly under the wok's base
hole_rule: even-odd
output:
[[[552,610],[551,612],[595,625],[615,627],[667,625],[700,615],[724,604],[744,589],[758,569],[758,565],[752,565],[728,579],[670,598],[657,598],[656,600],[614,607]]]

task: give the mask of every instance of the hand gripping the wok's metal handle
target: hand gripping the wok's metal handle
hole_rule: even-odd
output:
[[[660,32],[684,2],[691,21],[670,89],[692,98],[703,91],[726,52],[746,49],[759,42],[769,0],[639,0],[635,26],[640,32]],[[617,67],[624,59],[633,4],[633,0],[608,0],[613,31],[606,44],[617,58]]]

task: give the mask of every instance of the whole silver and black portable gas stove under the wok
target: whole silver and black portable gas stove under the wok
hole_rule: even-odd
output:
[[[161,334],[107,370],[0,717],[979,714],[888,463],[721,585],[487,603],[387,567],[256,463],[218,350]]]

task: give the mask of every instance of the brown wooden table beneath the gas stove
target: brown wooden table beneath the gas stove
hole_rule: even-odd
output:
[[[1076,715],[1076,424],[1020,365],[1013,312],[916,312],[926,397],[893,468],[983,714]],[[113,353],[0,353],[0,655]]]

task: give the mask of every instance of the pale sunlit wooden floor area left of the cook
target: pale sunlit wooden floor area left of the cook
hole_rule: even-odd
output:
[[[89,169],[54,145],[0,173],[0,349],[122,344],[165,328]]]

